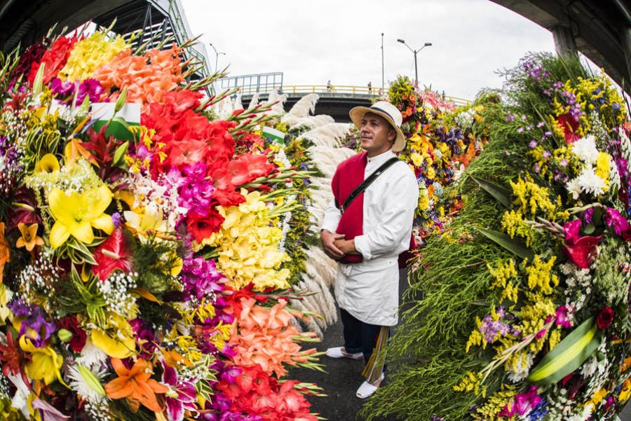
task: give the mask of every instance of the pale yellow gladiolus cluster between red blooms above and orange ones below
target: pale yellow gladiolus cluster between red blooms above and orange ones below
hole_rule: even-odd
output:
[[[242,190],[245,202],[227,209],[219,207],[225,221],[218,233],[203,244],[217,247],[217,269],[231,281],[230,287],[241,289],[254,284],[256,291],[266,288],[285,289],[290,270],[278,270],[287,254],[278,250],[280,228],[271,226],[269,209],[260,193]]]

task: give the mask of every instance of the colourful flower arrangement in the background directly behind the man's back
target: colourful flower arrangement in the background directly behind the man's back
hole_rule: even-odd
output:
[[[419,181],[419,207],[414,221],[420,244],[441,233],[462,206],[448,189],[486,143],[480,127],[484,101],[456,109],[431,90],[414,90],[407,76],[400,76],[388,90],[388,100],[403,116],[407,144],[400,158]]]

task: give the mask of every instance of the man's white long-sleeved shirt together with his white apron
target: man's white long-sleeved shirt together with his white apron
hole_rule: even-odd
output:
[[[368,158],[364,178],[393,156],[388,151]],[[340,264],[335,284],[339,307],[356,319],[378,326],[397,324],[398,256],[409,247],[418,203],[418,182],[402,161],[389,167],[366,189],[363,234],[355,237],[355,248],[362,254],[363,262]],[[332,203],[321,228],[334,233],[340,218],[339,209]]]

